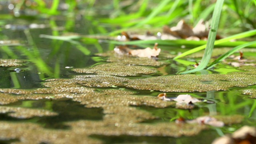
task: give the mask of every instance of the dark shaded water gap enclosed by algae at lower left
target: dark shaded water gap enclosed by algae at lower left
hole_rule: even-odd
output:
[[[59,100],[22,100],[7,104],[6,106],[15,106],[23,108],[36,108],[57,112],[58,116],[42,116],[28,119],[12,118],[6,114],[0,115],[0,120],[18,121],[18,122],[36,122],[44,128],[68,129],[69,126],[62,122],[74,120],[102,120],[102,108],[85,108],[79,102],[70,99]]]

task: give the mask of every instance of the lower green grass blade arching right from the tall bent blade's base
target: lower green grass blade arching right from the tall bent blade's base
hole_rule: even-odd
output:
[[[227,58],[228,56],[230,56],[231,54],[233,54],[234,52],[246,47],[246,46],[250,46],[252,44],[256,44],[256,41],[253,41],[253,42],[248,42],[246,44],[242,44],[240,46],[236,46],[234,48],[232,48],[232,50],[226,52],[225,54],[222,54],[219,58],[217,58],[216,60],[214,60],[214,62],[212,62],[210,64],[210,66],[208,66],[207,69],[210,69],[212,67],[214,67],[216,64],[218,64],[219,62],[221,62],[222,60],[224,60],[225,58]]]

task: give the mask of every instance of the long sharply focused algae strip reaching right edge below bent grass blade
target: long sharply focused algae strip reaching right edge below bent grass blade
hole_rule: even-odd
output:
[[[162,92],[206,92],[228,90],[231,87],[246,87],[256,84],[252,74],[208,74],[174,75],[151,78],[129,79],[110,75],[75,76],[73,79],[59,80],[68,84],[87,87],[125,86],[139,90],[158,90]],[[57,81],[44,83],[45,86],[57,85]]]

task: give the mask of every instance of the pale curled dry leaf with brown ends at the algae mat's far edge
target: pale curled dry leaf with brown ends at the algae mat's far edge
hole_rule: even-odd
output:
[[[158,43],[155,43],[155,46],[153,49],[145,48],[145,49],[138,49],[138,50],[131,50],[127,46],[117,46],[116,48],[114,48],[114,51],[117,54],[121,54],[121,55],[128,54],[132,56],[151,58],[159,55],[161,49],[158,48],[157,46],[158,46]]]

